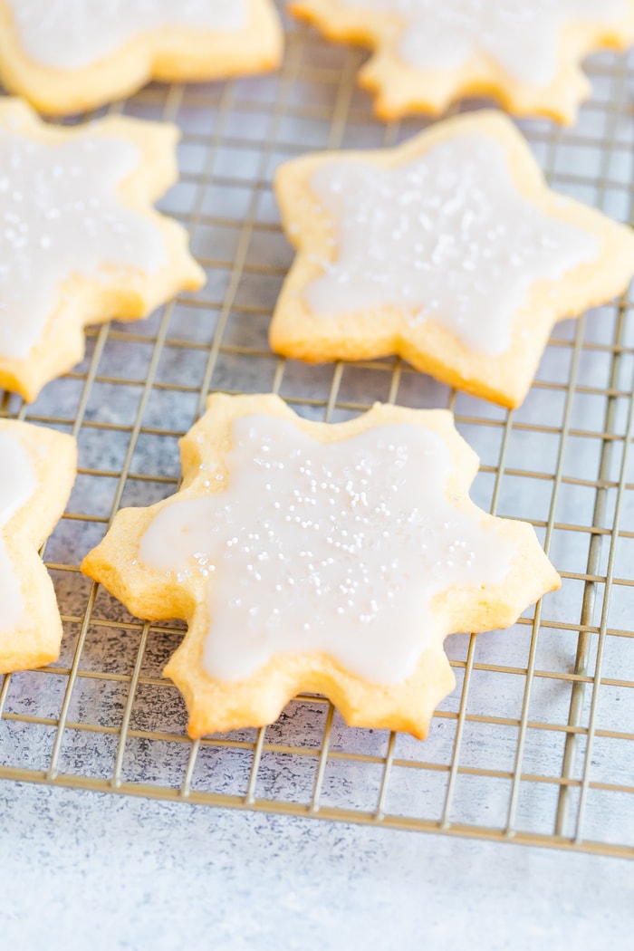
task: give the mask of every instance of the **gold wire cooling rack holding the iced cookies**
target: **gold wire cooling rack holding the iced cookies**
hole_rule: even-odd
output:
[[[629,299],[560,324],[521,410],[451,392],[398,360],[304,366],[266,340],[292,252],[271,180],[317,148],[392,145],[355,88],[364,53],[288,24],[278,75],[148,87],[113,107],[183,129],[183,222],[207,286],[150,320],[88,334],[86,359],[0,415],[73,433],[80,473],[48,542],[65,624],[60,660],[0,690],[0,777],[442,831],[634,857],[634,327]],[[629,222],[634,59],[588,65],[594,93],[562,131],[522,123],[555,188]],[[210,391],[279,393],[336,421],[376,399],[449,406],[482,458],[475,500],[536,528],[564,577],[511,631],[454,636],[457,687],[425,743],[346,728],[302,696],[261,730],[192,743],[163,666],[183,626],[144,624],[78,570],[122,505],[178,485],[177,440]],[[0,681],[0,683],[2,683]]]

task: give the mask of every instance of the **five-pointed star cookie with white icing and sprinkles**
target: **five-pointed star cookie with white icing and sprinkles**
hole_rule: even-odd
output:
[[[475,396],[525,398],[553,324],[624,291],[634,235],[548,190],[499,112],[402,146],[281,165],[298,256],[273,348],[308,361],[399,354]]]

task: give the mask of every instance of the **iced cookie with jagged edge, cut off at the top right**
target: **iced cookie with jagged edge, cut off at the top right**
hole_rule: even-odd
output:
[[[296,0],[290,10],[331,40],[375,49],[359,83],[385,120],[492,95],[516,115],[572,123],[591,88],[581,60],[634,42],[633,0]]]

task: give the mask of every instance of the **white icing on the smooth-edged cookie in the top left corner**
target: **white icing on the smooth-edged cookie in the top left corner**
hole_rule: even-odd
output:
[[[237,30],[246,0],[8,0],[24,48],[43,66],[81,69],[141,33]]]

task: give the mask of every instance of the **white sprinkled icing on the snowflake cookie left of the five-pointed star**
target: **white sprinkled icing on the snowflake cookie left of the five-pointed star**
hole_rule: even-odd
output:
[[[156,226],[117,199],[139,160],[123,139],[45,145],[0,126],[0,357],[29,355],[73,276],[166,262]]]

